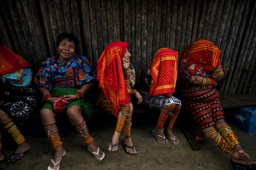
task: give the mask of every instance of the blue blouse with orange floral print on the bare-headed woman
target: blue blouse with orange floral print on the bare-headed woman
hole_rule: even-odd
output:
[[[44,87],[49,91],[52,90],[53,78],[63,76],[74,76],[76,85],[78,87],[83,86],[86,83],[93,82],[95,79],[95,73],[91,66],[90,61],[83,55],[75,54],[68,59],[64,65],[57,62],[59,55],[47,58],[46,61],[40,66],[34,82],[39,87]]]

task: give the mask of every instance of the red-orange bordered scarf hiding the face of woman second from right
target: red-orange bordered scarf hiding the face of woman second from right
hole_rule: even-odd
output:
[[[161,48],[152,58],[152,83],[148,96],[174,93],[178,73],[178,51]]]

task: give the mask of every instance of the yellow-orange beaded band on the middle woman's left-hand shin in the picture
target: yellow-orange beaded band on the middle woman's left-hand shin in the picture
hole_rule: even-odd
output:
[[[129,104],[123,104],[122,107],[119,110],[119,114],[117,116],[117,123],[116,123],[116,129],[115,131],[121,133],[124,123],[126,120],[126,116],[123,114],[128,114],[129,111]]]

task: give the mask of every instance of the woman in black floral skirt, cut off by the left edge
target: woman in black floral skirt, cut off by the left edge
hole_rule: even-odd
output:
[[[30,149],[15,123],[26,123],[36,107],[37,93],[32,79],[33,73],[27,61],[0,44],[0,124],[18,145],[6,164],[20,160]],[[3,160],[0,143],[0,162]]]

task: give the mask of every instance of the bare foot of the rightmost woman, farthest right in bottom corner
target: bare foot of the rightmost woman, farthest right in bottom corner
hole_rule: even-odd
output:
[[[256,164],[256,160],[250,158],[240,145],[234,146],[234,152],[230,156],[232,161],[236,163],[245,165]]]

